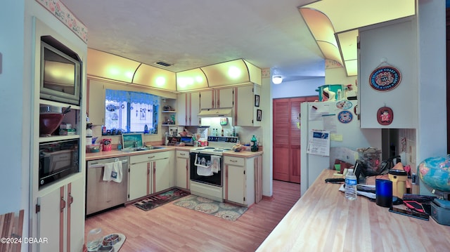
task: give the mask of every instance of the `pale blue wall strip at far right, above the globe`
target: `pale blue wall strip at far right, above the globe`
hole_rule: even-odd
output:
[[[442,0],[418,1],[417,161],[446,150],[446,13]],[[420,183],[420,194],[430,194]]]

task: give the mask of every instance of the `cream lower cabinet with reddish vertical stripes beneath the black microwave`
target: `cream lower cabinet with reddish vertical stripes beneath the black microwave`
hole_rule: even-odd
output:
[[[84,178],[37,198],[37,251],[82,251],[84,244]],[[44,241],[44,240],[43,240]]]

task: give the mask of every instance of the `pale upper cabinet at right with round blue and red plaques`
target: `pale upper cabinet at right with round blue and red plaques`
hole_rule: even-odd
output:
[[[361,128],[416,128],[416,30],[415,18],[360,29]]]

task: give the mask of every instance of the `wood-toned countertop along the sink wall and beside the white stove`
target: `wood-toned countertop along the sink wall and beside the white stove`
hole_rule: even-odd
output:
[[[155,152],[165,152],[167,150],[184,150],[189,151],[193,148],[192,146],[174,146],[174,145],[159,145],[155,147],[164,147],[164,149],[157,149],[157,150],[141,150],[139,152],[122,152],[120,150],[110,150],[107,152],[92,152],[92,153],[86,153],[86,161],[91,160],[97,160],[97,159],[108,159],[108,158],[114,158],[114,157],[127,157],[127,156],[134,156],[134,155],[141,155],[141,154],[148,154],[148,153],[155,153]],[[263,151],[257,151],[257,152],[234,152],[232,150],[223,152],[224,156],[231,156],[231,157],[256,157],[259,155],[262,155]]]

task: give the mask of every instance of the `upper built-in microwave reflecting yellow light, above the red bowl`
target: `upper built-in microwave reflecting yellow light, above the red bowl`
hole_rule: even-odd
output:
[[[41,37],[41,99],[79,105],[81,69],[77,53],[53,37]]]

